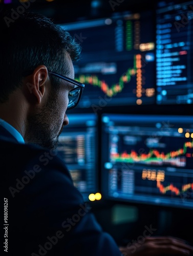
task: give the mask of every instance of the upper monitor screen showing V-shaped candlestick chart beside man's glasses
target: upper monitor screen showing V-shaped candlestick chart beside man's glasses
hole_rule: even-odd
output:
[[[81,58],[74,63],[75,79],[85,84],[77,108],[156,102],[152,15],[114,13],[58,25],[82,47]]]

